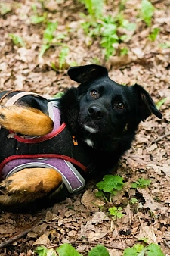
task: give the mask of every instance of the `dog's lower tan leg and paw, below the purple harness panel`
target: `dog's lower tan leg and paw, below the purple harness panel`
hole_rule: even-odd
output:
[[[27,204],[42,198],[62,184],[62,176],[54,169],[28,168],[14,173],[0,183],[0,208]]]

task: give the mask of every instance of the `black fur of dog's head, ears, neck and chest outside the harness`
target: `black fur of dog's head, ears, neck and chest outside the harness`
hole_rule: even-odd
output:
[[[150,95],[139,85],[122,86],[110,80],[107,69],[98,65],[71,67],[68,74],[81,83],[69,89],[60,99],[62,120],[85,143],[94,158],[97,173],[111,170],[119,158],[131,147],[138,124],[156,109]],[[92,97],[95,91],[97,97]],[[118,104],[124,108],[118,108]],[[92,128],[85,129],[85,125]]]

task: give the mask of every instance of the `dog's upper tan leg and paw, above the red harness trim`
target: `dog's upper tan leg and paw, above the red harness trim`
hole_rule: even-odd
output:
[[[15,133],[43,136],[53,130],[54,123],[36,108],[0,106],[0,125]]]

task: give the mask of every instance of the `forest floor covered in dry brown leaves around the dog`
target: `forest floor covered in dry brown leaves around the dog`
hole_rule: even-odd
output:
[[[97,187],[91,181],[84,193],[51,208],[24,214],[2,212],[0,242],[9,244],[0,244],[0,255],[36,255],[38,245],[70,243],[83,255],[103,244],[110,256],[121,256],[125,248],[144,238],[170,255],[170,8],[168,0],[152,3],[155,10],[147,27],[139,15],[141,1],[125,2],[123,18],[137,27],[133,31],[118,28],[117,33],[125,33],[127,39],[116,43],[115,52],[106,60],[100,36],[93,37],[91,27],[86,35],[82,29],[81,23],[88,22],[79,13],[87,14],[87,10],[78,0],[0,1],[0,90],[29,90],[51,98],[77,86],[66,75],[68,67],[103,64],[117,83],[144,86],[163,115],[162,120],[152,116],[141,123],[136,140],[116,169],[126,185],[112,202],[96,198]],[[104,15],[116,17],[119,12],[119,1],[108,0]],[[38,17],[42,22],[35,21]],[[46,20],[57,28],[54,38],[48,39],[51,47],[40,56]],[[155,28],[159,33],[151,40],[148,36]],[[120,54],[124,49],[126,54]],[[150,180],[150,185],[131,189],[139,178]],[[113,206],[122,207],[122,218],[110,216],[108,208]]]

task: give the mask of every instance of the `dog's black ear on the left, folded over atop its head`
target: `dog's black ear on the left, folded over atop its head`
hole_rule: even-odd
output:
[[[70,67],[67,73],[71,80],[77,83],[85,83],[100,78],[101,76],[108,76],[106,67],[94,64]]]

